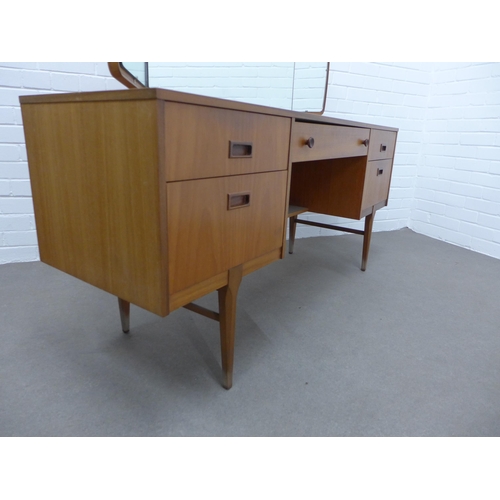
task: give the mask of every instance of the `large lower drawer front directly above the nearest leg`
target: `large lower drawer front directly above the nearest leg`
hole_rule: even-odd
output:
[[[170,294],[283,245],[287,172],[167,183]]]

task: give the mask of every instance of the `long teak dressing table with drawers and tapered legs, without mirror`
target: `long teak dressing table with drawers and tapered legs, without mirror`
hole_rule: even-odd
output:
[[[397,129],[162,89],[20,101],[41,261],[117,296],[124,332],[130,303],[218,320],[226,389],[240,282],[284,258],[289,215],[290,251],[297,223],[342,229],[306,209],[365,217],[366,268]]]

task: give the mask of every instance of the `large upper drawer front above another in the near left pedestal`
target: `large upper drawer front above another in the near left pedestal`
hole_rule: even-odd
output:
[[[286,170],[291,119],[165,103],[167,181]]]

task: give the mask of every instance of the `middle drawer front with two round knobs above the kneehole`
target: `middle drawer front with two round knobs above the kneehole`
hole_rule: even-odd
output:
[[[295,122],[290,152],[292,162],[366,156],[368,148],[363,142],[369,138],[370,129]]]

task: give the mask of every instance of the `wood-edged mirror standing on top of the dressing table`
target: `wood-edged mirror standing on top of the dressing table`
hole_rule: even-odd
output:
[[[108,63],[128,88],[158,88],[231,102],[323,114],[329,62]]]

